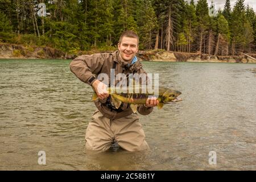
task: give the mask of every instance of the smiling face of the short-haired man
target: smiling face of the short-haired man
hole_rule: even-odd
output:
[[[118,49],[124,61],[131,61],[138,52],[138,40],[124,36],[122,42],[118,43]]]

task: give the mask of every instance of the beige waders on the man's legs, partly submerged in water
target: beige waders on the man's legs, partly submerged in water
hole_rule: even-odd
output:
[[[95,151],[108,150],[113,141],[127,151],[149,149],[137,113],[109,119],[96,110],[86,129],[85,140],[86,149]]]

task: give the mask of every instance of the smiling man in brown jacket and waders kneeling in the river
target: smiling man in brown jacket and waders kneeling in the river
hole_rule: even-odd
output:
[[[125,103],[116,109],[110,101],[107,86],[94,76],[105,73],[110,78],[111,69],[114,69],[115,75],[146,73],[135,56],[138,45],[138,35],[133,31],[126,31],[119,38],[118,51],[82,55],[76,57],[70,64],[71,71],[82,82],[91,85],[100,98],[94,101],[97,110],[86,129],[85,140],[88,150],[106,151],[113,142],[117,142],[128,151],[149,148],[138,114],[133,113],[130,105]],[[157,104],[159,101],[156,97],[148,98],[145,105],[138,106],[137,111],[142,115],[150,114]]]

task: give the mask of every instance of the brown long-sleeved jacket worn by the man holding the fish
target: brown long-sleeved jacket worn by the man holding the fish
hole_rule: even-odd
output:
[[[91,86],[93,82],[96,81],[97,75],[100,73],[106,73],[110,78],[110,69],[113,69],[114,67],[115,75],[118,73],[125,73],[126,75],[129,73],[146,73],[142,69],[142,64],[139,63],[139,61],[132,64],[130,67],[127,67],[127,64],[127,62],[119,59],[119,51],[115,51],[112,53],[96,53],[94,55],[82,55],[76,57],[69,67],[82,82]],[[133,112],[130,106],[125,104],[122,107],[123,111],[115,111],[109,109],[104,101],[96,100],[94,103],[105,117],[111,119],[126,117]],[[153,107],[147,108],[141,105],[137,110],[140,114],[147,115],[152,112]]]

